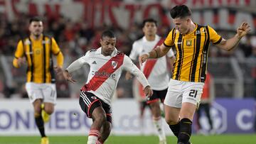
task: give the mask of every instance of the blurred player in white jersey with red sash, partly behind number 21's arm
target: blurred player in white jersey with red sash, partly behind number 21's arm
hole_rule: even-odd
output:
[[[142,31],[144,33],[144,37],[133,43],[132,51],[129,55],[129,57],[134,61],[138,60],[140,55],[154,50],[154,48],[157,48],[164,42],[159,35],[156,35],[157,23],[153,18],[147,18],[143,21]],[[172,50],[169,50],[166,57],[171,60],[172,64],[174,63],[175,57]],[[149,104],[151,108],[152,118],[159,136],[160,144],[166,143],[164,126],[162,125],[161,120],[161,109],[159,106],[159,99],[161,102],[165,99],[169,82],[169,74],[167,70],[168,62],[166,61],[166,57],[147,60],[141,67],[142,72],[145,74],[154,92],[153,95],[147,99],[146,103]],[[127,72],[126,79],[130,79],[131,76],[132,75]]]

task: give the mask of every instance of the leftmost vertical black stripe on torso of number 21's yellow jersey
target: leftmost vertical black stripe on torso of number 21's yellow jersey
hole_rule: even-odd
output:
[[[177,72],[176,72],[176,77],[175,79],[178,80],[179,79],[179,75],[181,72],[181,64],[182,64],[182,59],[183,59],[183,50],[182,50],[182,36],[181,33],[178,35],[178,43],[177,43],[177,47],[178,47],[178,67],[177,67]]]

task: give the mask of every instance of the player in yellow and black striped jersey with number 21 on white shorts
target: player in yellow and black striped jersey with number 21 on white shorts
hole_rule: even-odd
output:
[[[233,38],[225,40],[210,26],[193,23],[188,6],[174,6],[170,13],[175,28],[169,32],[159,48],[142,55],[139,61],[163,57],[175,46],[176,61],[164,100],[164,111],[166,122],[178,138],[177,143],[187,144],[190,143],[193,115],[200,104],[206,79],[210,42],[222,50],[233,50],[250,31],[250,25],[242,23]]]

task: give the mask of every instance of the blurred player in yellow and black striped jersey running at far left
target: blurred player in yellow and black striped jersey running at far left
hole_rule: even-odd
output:
[[[63,67],[63,54],[54,38],[43,35],[43,21],[40,18],[31,18],[28,29],[31,34],[19,40],[13,65],[17,68],[28,65],[26,91],[33,104],[41,144],[48,144],[44,123],[49,121],[57,97],[52,55],[57,58],[54,69],[58,73]]]

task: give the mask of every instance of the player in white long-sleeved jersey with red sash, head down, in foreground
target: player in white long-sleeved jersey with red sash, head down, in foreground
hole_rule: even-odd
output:
[[[88,118],[92,118],[87,144],[101,144],[107,140],[112,128],[111,98],[121,77],[122,70],[136,75],[144,87],[146,96],[153,94],[144,74],[133,64],[132,60],[115,48],[116,38],[112,31],[104,31],[100,39],[101,48],[86,52],[75,60],[63,75],[69,82],[75,82],[71,72],[82,65],[90,65],[86,84],[81,88],[79,103]]]

